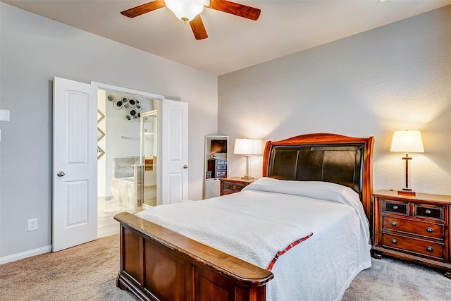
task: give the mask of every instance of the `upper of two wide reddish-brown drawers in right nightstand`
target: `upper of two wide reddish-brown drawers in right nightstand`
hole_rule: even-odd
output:
[[[439,240],[445,239],[444,225],[398,219],[392,216],[383,216],[383,231],[385,232],[387,230],[421,235],[425,238],[436,238]]]

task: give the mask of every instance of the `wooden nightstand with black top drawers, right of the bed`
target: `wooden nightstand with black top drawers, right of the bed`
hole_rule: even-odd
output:
[[[451,278],[451,196],[396,190],[373,196],[373,257],[385,254],[445,269]]]

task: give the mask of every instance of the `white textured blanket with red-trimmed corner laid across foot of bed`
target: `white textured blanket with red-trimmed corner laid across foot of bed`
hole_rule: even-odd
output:
[[[279,252],[312,235],[299,223],[276,221],[215,202],[185,201],[136,215],[264,269]]]

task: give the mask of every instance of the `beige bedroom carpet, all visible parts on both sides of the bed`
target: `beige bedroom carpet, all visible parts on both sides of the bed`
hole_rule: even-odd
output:
[[[137,300],[116,288],[118,268],[118,235],[3,264],[0,300]],[[373,266],[354,278],[343,300],[449,301],[451,280],[424,266],[373,259]]]

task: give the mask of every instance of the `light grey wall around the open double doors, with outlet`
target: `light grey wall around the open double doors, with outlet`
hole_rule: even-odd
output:
[[[217,129],[217,78],[0,3],[0,259],[51,245],[54,76],[189,103],[190,199],[201,199],[204,136]],[[27,232],[27,219],[39,229]],[[0,260],[1,262],[1,260]]]

